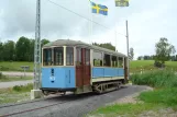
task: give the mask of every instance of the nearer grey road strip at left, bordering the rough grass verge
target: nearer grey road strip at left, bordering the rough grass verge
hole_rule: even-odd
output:
[[[15,85],[25,85],[27,83],[33,83],[33,81],[27,80],[27,81],[0,82],[0,89],[13,87]]]

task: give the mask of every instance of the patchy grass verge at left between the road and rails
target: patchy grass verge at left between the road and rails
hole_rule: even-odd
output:
[[[15,85],[12,89],[0,89],[0,104],[16,103],[30,100],[30,91],[33,84]]]

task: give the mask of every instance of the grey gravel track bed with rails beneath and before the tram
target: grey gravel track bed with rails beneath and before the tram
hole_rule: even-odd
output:
[[[136,85],[129,85],[119,91],[109,92],[101,95],[96,94],[82,94],[82,95],[73,95],[73,96],[64,96],[63,100],[68,101],[65,104],[58,104],[53,107],[43,108],[35,112],[29,112],[25,114],[16,115],[14,117],[82,117],[85,114],[89,113],[90,110],[95,110],[100,106],[104,106],[106,104],[112,103],[118,98],[122,98],[134,93],[141,92],[146,90],[147,86],[136,86]],[[52,104],[52,103],[60,102],[60,97],[52,100],[52,102],[43,102],[44,104]],[[29,107],[38,107],[41,103],[33,103],[29,104],[27,106],[19,106],[15,107],[15,110],[24,110]],[[13,107],[0,109],[0,115],[12,113],[8,110],[14,110]]]

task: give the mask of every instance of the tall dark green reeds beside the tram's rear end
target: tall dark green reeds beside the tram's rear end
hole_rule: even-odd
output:
[[[169,70],[148,71],[143,74],[133,74],[132,83],[153,87],[177,87],[177,75]]]

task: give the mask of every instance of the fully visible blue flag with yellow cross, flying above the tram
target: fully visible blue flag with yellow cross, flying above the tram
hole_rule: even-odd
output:
[[[108,15],[108,8],[106,5],[96,4],[96,3],[91,2],[91,7],[92,7],[92,13]]]

